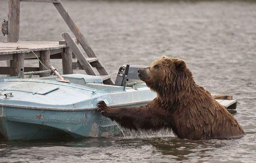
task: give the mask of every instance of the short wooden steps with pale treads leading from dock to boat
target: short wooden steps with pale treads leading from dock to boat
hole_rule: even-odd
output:
[[[62,37],[64,38],[65,42],[77,58],[77,62],[72,63],[72,69],[83,69],[88,75],[97,75],[96,72],[93,70],[93,67],[95,67],[99,72],[99,75],[102,77],[103,83],[113,85],[111,75],[109,75],[108,71],[106,71],[104,66],[102,66],[102,63],[100,63],[99,58],[91,48],[90,49],[93,53],[87,53],[84,49],[85,54],[88,55],[88,57],[85,57],[85,54],[81,51],[76,41],[70,36],[68,32],[64,32],[62,34]],[[77,42],[79,43],[79,41]],[[90,46],[87,43],[87,48],[88,47]]]

